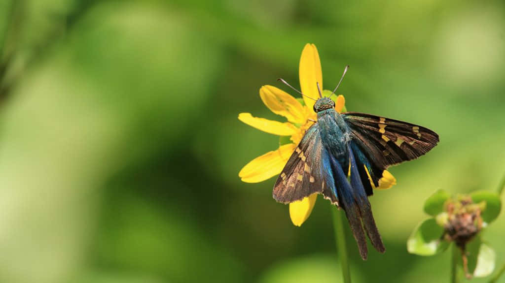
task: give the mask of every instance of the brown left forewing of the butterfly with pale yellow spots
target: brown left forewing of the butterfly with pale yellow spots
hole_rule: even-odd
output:
[[[319,129],[314,124],[306,131],[277,178],[273,190],[275,200],[290,203],[323,192],[319,170],[321,147]]]

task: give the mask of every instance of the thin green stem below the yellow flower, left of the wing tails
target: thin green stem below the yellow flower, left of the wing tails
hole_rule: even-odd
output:
[[[331,214],[333,216],[333,228],[335,230],[335,243],[337,253],[340,258],[340,267],[342,268],[342,277],[344,283],[350,283],[349,261],[347,256],[347,246],[345,244],[345,214],[343,210],[336,209],[331,205]]]

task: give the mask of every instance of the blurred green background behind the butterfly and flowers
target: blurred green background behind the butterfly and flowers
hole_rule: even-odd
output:
[[[237,114],[282,121],[258,91],[299,87],[308,42],[347,109],[440,135],[371,197],[386,253],[347,234],[353,279],[447,282],[406,241],[433,191],[505,173],[503,1],[0,2],[0,281],[340,282],[329,202],[297,228],[237,175],[278,146]]]

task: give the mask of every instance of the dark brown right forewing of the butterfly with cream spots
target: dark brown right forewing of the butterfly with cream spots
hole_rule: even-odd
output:
[[[438,143],[434,131],[419,125],[355,112],[342,116],[351,130],[353,141],[378,171],[416,159]]]

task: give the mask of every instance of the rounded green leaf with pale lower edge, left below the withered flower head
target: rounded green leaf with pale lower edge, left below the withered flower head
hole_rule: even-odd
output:
[[[443,228],[430,218],[418,225],[407,241],[407,250],[417,255],[435,255],[444,251],[449,243],[442,239]]]

